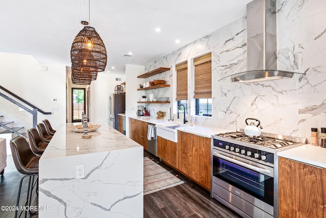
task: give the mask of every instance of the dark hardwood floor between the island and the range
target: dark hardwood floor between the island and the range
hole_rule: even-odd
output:
[[[159,159],[144,152],[155,161]],[[165,163],[159,165],[171,170]],[[144,196],[144,217],[241,217],[210,197],[210,192],[173,170],[186,183]]]

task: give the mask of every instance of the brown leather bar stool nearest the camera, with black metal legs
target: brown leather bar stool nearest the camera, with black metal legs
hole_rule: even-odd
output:
[[[36,185],[36,193],[38,195],[38,174],[39,174],[39,159],[40,157],[35,155],[29,146],[29,143],[26,141],[24,137],[18,137],[13,139],[10,142],[10,149],[12,152],[12,157],[14,159],[15,166],[17,171],[24,176],[20,179],[19,189],[18,189],[18,196],[17,196],[17,203],[16,208],[19,208],[19,199],[21,193],[21,186],[24,178],[29,177],[29,186],[28,192],[26,195],[26,202],[25,206],[31,206],[32,201],[32,193],[33,189]],[[36,177],[36,180],[35,180]],[[30,207],[29,207],[30,208]],[[23,210],[21,210],[19,217],[21,216]],[[15,217],[17,217],[18,210],[15,211]],[[35,213],[31,210],[29,211],[30,214]],[[27,210],[25,210],[25,217],[27,215]]]

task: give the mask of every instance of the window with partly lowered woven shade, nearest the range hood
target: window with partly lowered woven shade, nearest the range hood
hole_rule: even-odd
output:
[[[196,115],[212,115],[212,64],[211,53],[194,59]]]

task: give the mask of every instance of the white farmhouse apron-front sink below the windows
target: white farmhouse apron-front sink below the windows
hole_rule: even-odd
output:
[[[180,123],[158,123],[156,124],[157,136],[168,139],[170,141],[178,142],[178,131],[176,128],[190,126],[188,124]]]

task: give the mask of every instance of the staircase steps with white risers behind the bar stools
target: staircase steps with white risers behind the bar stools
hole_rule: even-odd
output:
[[[0,115],[0,138],[6,139],[7,155],[11,155],[10,141],[16,137],[23,136],[27,138],[22,126],[15,126],[14,121],[5,121],[4,115]]]

